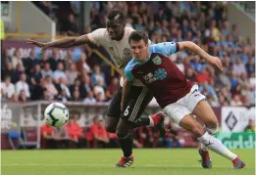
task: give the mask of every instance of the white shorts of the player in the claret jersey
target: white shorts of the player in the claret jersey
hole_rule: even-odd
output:
[[[198,86],[193,85],[188,94],[179,99],[176,103],[166,106],[163,110],[179,124],[179,121],[185,115],[192,113],[198,102],[204,99],[206,99],[206,97],[199,92]]]

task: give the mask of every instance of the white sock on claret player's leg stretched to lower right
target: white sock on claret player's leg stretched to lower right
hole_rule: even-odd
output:
[[[229,158],[230,160],[233,160],[237,157],[237,154],[231,153],[230,150],[227,149],[220,140],[211,136],[208,132],[205,132],[204,135],[197,138],[197,140],[208,149],[215,153],[219,153]]]

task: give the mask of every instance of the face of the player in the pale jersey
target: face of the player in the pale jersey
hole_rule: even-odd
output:
[[[107,30],[109,36],[113,40],[121,40],[124,36],[125,24],[120,21],[108,21]]]

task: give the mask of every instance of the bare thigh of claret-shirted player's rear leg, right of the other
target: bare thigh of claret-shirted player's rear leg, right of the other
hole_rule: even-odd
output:
[[[197,103],[192,113],[196,115],[207,127],[218,127],[218,119],[213,109],[205,100],[201,100],[199,103]]]

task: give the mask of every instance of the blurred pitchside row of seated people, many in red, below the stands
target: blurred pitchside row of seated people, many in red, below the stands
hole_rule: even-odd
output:
[[[103,120],[95,116],[91,125],[82,128],[77,123],[77,119],[78,115],[72,115],[68,123],[60,128],[42,125],[40,128],[41,148],[120,148],[117,135],[106,131]],[[170,122],[167,127],[170,129],[172,125],[173,123]],[[133,130],[133,145],[135,148],[181,148],[196,147],[197,143],[189,133],[179,132],[179,135],[170,133],[166,135],[164,131],[160,132],[152,127],[139,127]]]

